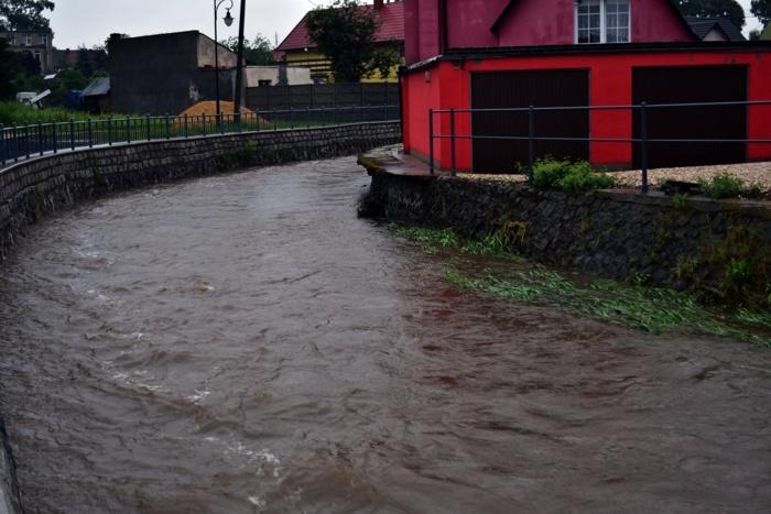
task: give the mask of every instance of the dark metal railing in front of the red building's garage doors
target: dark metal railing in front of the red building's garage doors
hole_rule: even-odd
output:
[[[739,107],[743,108],[749,112],[752,107],[768,106],[771,108],[771,100],[762,101],[726,101],[726,102],[693,102],[693,103],[645,103],[641,102],[639,105],[630,106],[584,106],[584,107],[524,107],[524,108],[499,108],[499,109],[430,109],[428,111],[428,141],[430,141],[430,156],[428,165],[432,175],[436,172],[436,155],[435,155],[435,141],[436,140],[448,140],[449,141],[449,171],[453,176],[457,172],[457,145],[458,141],[501,141],[501,142],[526,142],[526,172],[528,178],[532,181],[533,178],[533,167],[535,164],[536,155],[536,144],[539,142],[583,142],[589,145],[590,143],[608,143],[608,144],[626,144],[632,145],[633,152],[639,152],[639,163],[642,175],[642,190],[648,193],[649,181],[648,172],[650,168],[649,156],[651,154],[651,149],[655,145],[688,145],[688,144],[771,144],[771,111],[765,112],[761,119],[765,121],[765,125],[762,125],[763,134],[768,134],[769,139],[752,139],[747,136],[748,127],[745,127],[746,131],[743,136],[739,138],[721,138],[721,136],[696,136],[698,133],[698,128],[693,127],[693,132],[684,136],[667,136],[661,138],[656,134],[652,134],[650,130],[651,116],[654,112],[672,110],[682,112],[683,109],[709,109],[709,108],[725,108],[725,107]],[[539,112],[565,112],[565,111],[585,111],[591,113],[595,111],[627,111],[631,112],[631,119],[633,127],[627,127],[627,131],[631,132],[632,136],[593,136],[589,130],[589,124],[587,124],[587,136],[555,136],[555,135],[539,135],[536,130],[536,121]],[[458,133],[458,117],[459,116],[471,116],[475,114],[496,114],[496,116],[512,116],[520,114],[526,117],[526,133],[514,133],[514,134],[479,134],[475,133],[474,123],[470,122],[469,133],[461,134]],[[747,116],[747,114],[746,114]],[[448,132],[437,132],[436,131],[436,119],[437,117],[447,117]],[[749,118],[749,116],[747,116]],[[664,119],[665,121],[665,119]],[[522,124],[522,123],[520,123]],[[558,124],[558,123],[557,123]],[[554,127],[550,127],[549,132],[554,132]],[[512,162],[512,167],[514,163]],[[721,163],[719,163],[721,164]]]

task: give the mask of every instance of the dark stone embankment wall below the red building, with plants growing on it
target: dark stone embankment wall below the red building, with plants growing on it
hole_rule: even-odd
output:
[[[764,299],[771,298],[768,203],[616,190],[569,195],[495,179],[372,175],[365,214],[496,234],[553,266],[771,307]]]

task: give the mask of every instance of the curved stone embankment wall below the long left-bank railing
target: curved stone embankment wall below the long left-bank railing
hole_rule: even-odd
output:
[[[0,259],[46,215],[109,193],[250,166],[351,155],[401,140],[398,122],[245,132],[46,155],[0,172]],[[216,199],[215,199],[216,200]],[[0,419],[0,514],[21,511]]]

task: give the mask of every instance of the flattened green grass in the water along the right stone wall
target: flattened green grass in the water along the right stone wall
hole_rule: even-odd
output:
[[[649,287],[643,281],[638,281],[637,285],[606,280],[583,283],[528,263],[501,249],[495,238],[473,241],[457,236],[452,229],[398,225],[391,225],[390,229],[399,237],[431,249],[427,253],[449,256],[443,276],[461,289],[517,302],[554,305],[571,314],[651,333],[705,333],[771,348],[771,313],[709,310],[688,294]],[[445,249],[444,254],[441,249]],[[480,270],[477,256],[492,259]]]

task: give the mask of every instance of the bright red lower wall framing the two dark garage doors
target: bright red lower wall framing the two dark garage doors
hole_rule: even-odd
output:
[[[749,67],[749,99],[771,100],[771,51],[701,51],[575,54],[551,56],[513,56],[467,61],[460,65],[441,62],[432,66],[430,81],[425,69],[404,77],[405,151],[427,156],[428,109],[470,108],[470,74],[475,72],[517,69],[589,69],[591,106],[628,106],[632,101],[632,68],[638,66],[747,65]],[[448,114],[435,117],[435,133],[449,134]],[[470,134],[470,116],[456,114],[456,134]],[[522,134],[524,135],[524,134]],[[591,138],[631,138],[632,116],[629,110],[593,111]],[[750,139],[771,139],[771,106],[753,106],[749,112]],[[442,167],[450,165],[448,140],[435,140],[435,155]],[[471,145],[468,140],[456,141],[458,169],[471,167]],[[752,144],[748,158],[771,158],[771,145]],[[629,166],[632,161],[631,143],[595,142],[590,160],[598,165]]]

